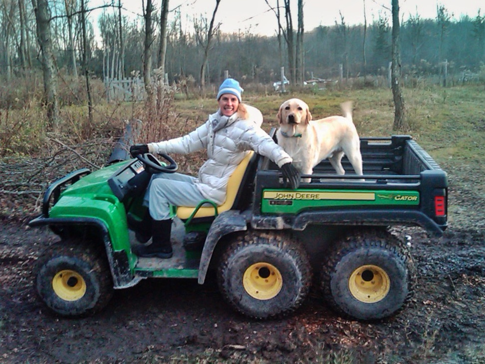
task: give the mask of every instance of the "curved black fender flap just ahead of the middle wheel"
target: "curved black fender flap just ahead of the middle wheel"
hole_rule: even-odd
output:
[[[209,263],[216,245],[224,235],[235,231],[247,230],[247,218],[239,210],[229,210],[218,215],[207,234],[206,243],[202,250],[201,262],[199,265],[199,284],[204,284]]]

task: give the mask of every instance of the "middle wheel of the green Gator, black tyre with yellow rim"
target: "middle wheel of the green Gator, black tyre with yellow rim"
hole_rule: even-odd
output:
[[[218,283],[223,297],[242,314],[267,319],[298,308],[311,285],[303,247],[288,233],[238,235],[221,256]]]

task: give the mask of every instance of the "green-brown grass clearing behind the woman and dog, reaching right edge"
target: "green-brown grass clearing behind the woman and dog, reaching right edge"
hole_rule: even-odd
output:
[[[244,101],[258,107],[263,128],[277,127],[276,113],[287,98],[298,97],[310,107],[314,119],[339,114],[339,104],[352,100],[353,119],[361,136],[410,134],[438,161],[472,161],[485,152],[485,88],[464,86],[404,89],[407,128],[393,130],[394,103],[388,89],[290,92],[272,95],[244,95]],[[203,122],[214,112],[212,98],[177,100],[182,119]]]

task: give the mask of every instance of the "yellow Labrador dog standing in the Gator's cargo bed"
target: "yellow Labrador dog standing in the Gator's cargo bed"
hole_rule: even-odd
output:
[[[363,175],[360,139],[352,121],[352,102],[346,101],[340,106],[343,116],[319,120],[312,120],[308,105],[297,98],[286,100],[279,107],[276,138],[301,174],[313,174],[313,167],[328,158],[337,174],[344,175],[341,160],[345,154],[355,173]]]

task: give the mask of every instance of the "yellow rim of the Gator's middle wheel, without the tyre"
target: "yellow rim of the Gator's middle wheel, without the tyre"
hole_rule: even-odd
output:
[[[243,287],[247,294],[257,300],[270,300],[283,286],[283,277],[278,269],[269,263],[255,263],[243,275]]]

